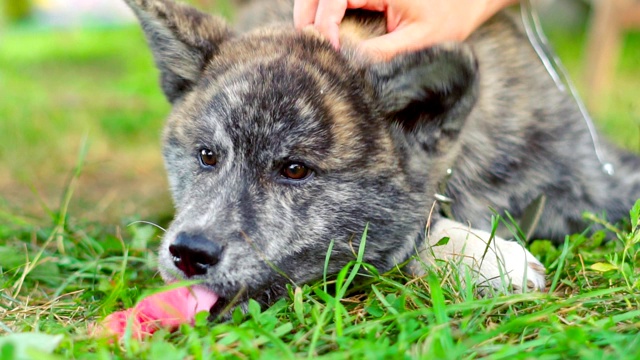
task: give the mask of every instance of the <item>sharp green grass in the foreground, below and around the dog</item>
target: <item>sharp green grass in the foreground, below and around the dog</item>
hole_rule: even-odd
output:
[[[534,242],[532,251],[549,270],[545,293],[483,298],[461,286],[453,264],[420,278],[379,275],[359,254],[332,287],[290,287],[288,298],[267,310],[253,302],[248,314],[236,311],[232,321],[215,325],[201,314],[194,326],[121,344],[91,338],[88,326],[160,286],[149,246],[156,228],[135,225],[110,234],[64,221],[64,206],[58,215],[50,228],[0,226],[9,239],[0,246],[0,328],[62,335],[37,340],[60,341],[50,359],[640,356],[640,202],[629,232],[606,224],[608,231],[573,235],[558,248]],[[359,270],[364,277],[349,287]],[[0,340],[0,359],[28,343],[8,342],[12,336]]]

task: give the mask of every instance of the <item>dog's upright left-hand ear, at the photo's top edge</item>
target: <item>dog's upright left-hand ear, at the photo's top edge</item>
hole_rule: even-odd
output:
[[[125,0],[136,14],[174,103],[198,81],[220,44],[232,34],[225,22],[171,0]]]

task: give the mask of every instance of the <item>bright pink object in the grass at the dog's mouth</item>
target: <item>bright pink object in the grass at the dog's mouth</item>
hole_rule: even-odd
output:
[[[197,286],[164,291],[143,299],[134,308],[107,316],[94,333],[122,338],[131,324],[131,336],[141,339],[160,328],[193,323],[197,313],[209,311],[216,301],[218,295]]]

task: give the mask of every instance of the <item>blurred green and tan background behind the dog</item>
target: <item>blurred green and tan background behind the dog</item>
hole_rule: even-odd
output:
[[[71,19],[47,15],[55,0],[0,1],[0,221],[37,221],[55,211],[83,139],[89,148],[71,203],[76,217],[166,221],[172,210],[160,136],[170,108],[137,25],[120,13],[101,17],[102,10]],[[232,13],[230,0],[192,2]],[[581,87],[589,6],[560,3],[561,10],[542,15]],[[613,84],[594,117],[606,137],[638,151],[639,32],[626,34]]]

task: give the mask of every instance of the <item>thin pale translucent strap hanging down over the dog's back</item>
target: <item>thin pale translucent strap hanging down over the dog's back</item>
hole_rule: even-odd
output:
[[[584,119],[585,123],[587,124],[587,128],[589,129],[589,134],[593,143],[593,150],[596,157],[598,158],[598,161],[602,165],[602,171],[604,171],[607,175],[612,176],[615,173],[613,164],[605,161],[602,156],[602,152],[600,150],[600,141],[598,139],[598,134],[595,130],[595,126],[593,125],[593,120],[591,119],[591,116],[589,115],[584,102],[580,98],[580,95],[578,95],[575,85],[571,81],[571,78],[569,78],[567,70],[562,65],[562,62],[560,61],[558,56],[551,50],[549,41],[542,31],[540,18],[538,17],[538,13],[533,7],[531,0],[520,0],[520,12],[527,37],[529,38],[529,42],[533,46],[536,54],[538,54],[538,57],[540,58],[540,61],[542,61],[545,69],[547,70],[553,81],[556,83],[558,89],[560,89],[560,91],[564,93],[568,91],[578,105],[578,109],[580,109],[582,118]]]

